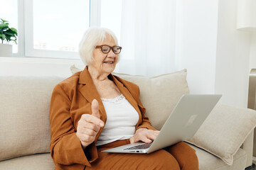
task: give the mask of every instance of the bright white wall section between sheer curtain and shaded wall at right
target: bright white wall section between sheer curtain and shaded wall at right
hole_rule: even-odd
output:
[[[176,69],[188,69],[191,94],[213,94],[218,1],[179,0],[176,16]]]

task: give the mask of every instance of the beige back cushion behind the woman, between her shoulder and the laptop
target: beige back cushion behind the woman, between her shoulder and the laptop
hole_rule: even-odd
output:
[[[81,71],[75,66],[70,67],[70,70],[73,74]],[[181,96],[189,93],[186,69],[157,77],[113,74],[139,86],[139,97],[146,108],[146,116],[149,117],[151,125],[157,130],[160,130],[164,125]]]

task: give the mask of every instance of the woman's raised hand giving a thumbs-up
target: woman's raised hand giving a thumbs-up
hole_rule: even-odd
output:
[[[92,101],[92,115],[83,114],[78,121],[76,135],[81,141],[82,149],[85,149],[85,147],[95,141],[97,133],[104,124],[105,123],[100,120],[99,103],[94,99]]]

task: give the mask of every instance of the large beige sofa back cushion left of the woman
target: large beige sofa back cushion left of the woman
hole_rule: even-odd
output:
[[[0,160],[50,152],[50,97],[58,77],[0,77]]]

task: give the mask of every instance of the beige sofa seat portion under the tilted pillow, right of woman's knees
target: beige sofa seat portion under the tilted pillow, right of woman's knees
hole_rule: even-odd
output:
[[[188,144],[190,145],[190,144]],[[200,170],[241,170],[245,169],[247,154],[245,150],[238,149],[238,152],[234,155],[234,162],[232,166],[225,164],[223,160],[218,157],[215,157],[213,154],[204,151],[194,145],[190,145],[193,149],[196,150],[196,155],[198,156],[199,169]]]

